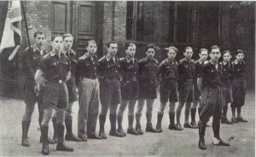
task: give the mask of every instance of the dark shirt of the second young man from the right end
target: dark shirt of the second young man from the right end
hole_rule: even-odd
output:
[[[219,63],[221,76],[220,79],[223,83],[231,80],[231,70],[232,65],[230,63],[224,64],[223,62]]]

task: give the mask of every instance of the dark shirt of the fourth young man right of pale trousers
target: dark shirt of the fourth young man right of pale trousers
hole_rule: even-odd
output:
[[[163,60],[158,67],[158,75],[162,79],[177,79],[177,61]]]

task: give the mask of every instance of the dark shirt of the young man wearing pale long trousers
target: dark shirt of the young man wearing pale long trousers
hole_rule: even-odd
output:
[[[79,84],[80,78],[96,79],[98,75],[98,66],[99,63],[96,56],[93,56],[92,59],[86,55],[80,57],[75,70],[76,85]]]

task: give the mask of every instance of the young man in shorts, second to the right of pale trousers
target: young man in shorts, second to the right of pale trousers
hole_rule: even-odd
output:
[[[125,53],[126,56],[120,59],[121,64],[121,99],[122,102],[119,106],[118,111],[118,132],[124,135],[125,132],[123,130],[122,122],[123,122],[123,113],[125,108],[128,105],[128,123],[129,127],[127,129],[127,133],[133,135],[139,135],[133,128],[133,120],[134,120],[134,106],[137,102],[138,98],[138,63],[137,59],[134,58],[136,53],[136,45],[134,43],[126,43],[125,44]]]

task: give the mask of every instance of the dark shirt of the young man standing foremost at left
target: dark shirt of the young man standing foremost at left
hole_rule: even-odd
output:
[[[55,53],[48,53],[38,63],[38,70],[42,70],[45,80],[66,81],[67,73],[71,70],[67,56],[61,53],[61,58]]]

